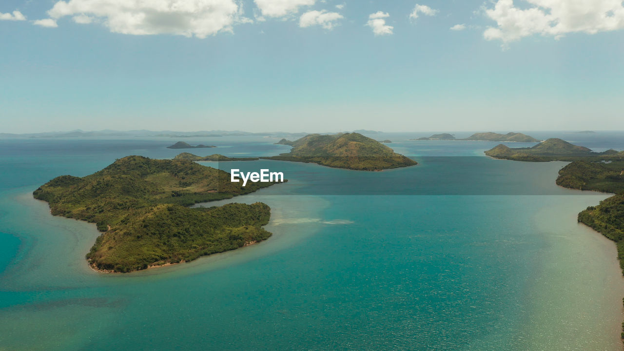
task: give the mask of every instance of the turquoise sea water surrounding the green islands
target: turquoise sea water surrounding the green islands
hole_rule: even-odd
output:
[[[285,172],[223,201],[269,204],[273,237],[126,275],[90,270],[94,225],[30,192],[129,154],[173,157],[172,141],[0,141],[0,350],[622,349],[615,245],[575,220],[608,195],[557,187],[563,162],[482,156],[497,143],[386,137],[419,166],[205,162]],[[288,149],[208,142],[227,156]]]

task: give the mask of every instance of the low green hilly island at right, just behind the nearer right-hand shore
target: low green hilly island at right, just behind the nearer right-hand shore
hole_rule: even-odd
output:
[[[587,147],[570,144],[558,138],[548,139],[532,147],[511,148],[500,144],[485,151],[485,154],[496,159],[532,162],[600,161],[602,159],[618,159],[624,156],[624,152],[617,152],[615,150],[593,152]]]

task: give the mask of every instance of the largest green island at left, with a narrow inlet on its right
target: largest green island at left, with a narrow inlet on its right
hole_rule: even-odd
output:
[[[275,182],[230,182],[230,174],[187,160],[128,156],[85,177],[61,175],[33,192],[52,215],[95,223],[102,234],[86,255],[100,272],[177,264],[268,239],[270,208],[198,202],[255,192]]]

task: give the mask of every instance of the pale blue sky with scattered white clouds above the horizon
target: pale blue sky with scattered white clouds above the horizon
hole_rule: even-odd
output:
[[[624,130],[618,0],[2,0],[0,132]]]

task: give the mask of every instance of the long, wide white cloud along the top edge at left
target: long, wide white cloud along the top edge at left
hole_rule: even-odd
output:
[[[199,38],[232,31],[234,24],[249,21],[235,0],[69,0],[56,2],[47,13],[55,24],[65,16],[78,23],[97,18],[115,33]]]

